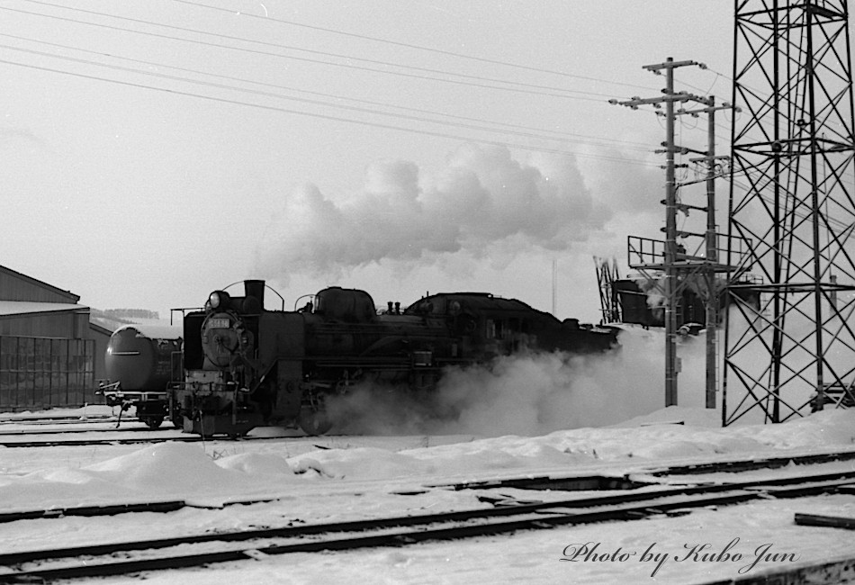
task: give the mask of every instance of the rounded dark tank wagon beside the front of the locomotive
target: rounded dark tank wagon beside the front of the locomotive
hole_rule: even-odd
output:
[[[160,427],[169,415],[169,384],[183,375],[183,342],[180,327],[116,329],[104,356],[107,380],[101,381],[98,393],[109,406],[121,406],[121,412],[135,407],[139,420],[150,428]]]

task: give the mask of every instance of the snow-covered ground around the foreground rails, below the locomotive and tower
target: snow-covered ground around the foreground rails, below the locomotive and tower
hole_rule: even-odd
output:
[[[281,437],[149,446],[0,448],[0,512],[175,499],[197,506],[168,514],[5,523],[0,525],[0,550],[470,509],[488,506],[477,500],[487,492],[520,500],[563,500],[591,492],[454,491],[425,486],[542,474],[644,473],[689,461],[855,449],[855,410],[824,411],[780,425],[730,428],[720,428],[719,416],[716,410],[671,407],[610,427],[535,437]],[[684,424],[674,424],[678,422]],[[4,423],[0,430],[14,428]],[[152,436],[175,432],[155,431]],[[265,433],[275,431],[256,431]],[[842,462],[826,464],[824,469],[853,466]],[[754,475],[759,473],[771,476],[793,470]],[[272,501],[225,505],[239,500]],[[285,554],[180,573],[154,572],[146,581],[699,583],[855,554],[855,533],[799,527],[793,519],[796,512],[855,518],[855,495],[760,500],[698,509],[680,518],[560,527],[454,543]],[[695,546],[703,548],[693,552]],[[723,550],[730,560],[703,556]],[[755,564],[757,554],[761,559]],[[136,579],[102,582],[130,581]]]

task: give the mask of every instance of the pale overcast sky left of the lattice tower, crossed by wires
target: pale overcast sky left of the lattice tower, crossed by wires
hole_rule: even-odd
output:
[[[558,316],[599,320],[592,258],[626,272],[626,237],[664,225],[664,122],[608,99],[660,95],[642,67],[668,57],[707,65],[681,67],[678,90],[731,97],[722,0],[0,11],[0,264],[164,317],[249,277],[286,309],[339,284],[381,305],[475,290],[551,311],[557,261]],[[680,120],[682,144],[706,139]]]

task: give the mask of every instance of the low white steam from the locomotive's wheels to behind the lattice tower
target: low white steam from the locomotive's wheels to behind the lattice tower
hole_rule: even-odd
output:
[[[748,324],[733,308],[730,317],[734,320],[731,336],[743,344]],[[806,331],[812,327],[808,320],[803,321],[790,331],[793,335],[797,331],[797,338],[806,338]],[[400,389],[358,386],[328,403],[336,425],[332,432],[537,436],[556,430],[614,425],[660,410],[665,407],[664,331],[631,325],[624,328],[618,336],[618,347],[602,354],[518,354],[501,356],[490,364],[450,368],[427,402],[416,400]],[[724,332],[719,330],[718,334],[723,337]],[[717,346],[718,412],[722,409],[721,378],[725,374],[722,341],[720,338]],[[742,374],[748,376],[747,380],[757,379],[761,385],[768,383],[768,347],[770,331],[732,356]],[[706,407],[706,350],[705,331],[678,340],[681,407]],[[851,356],[849,347],[834,352],[826,358],[826,370],[849,372]],[[813,370],[808,367],[814,357],[792,350],[786,357],[784,375],[803,372],[805,376],[780,395],[781,400],[797,410],[815,392]],[[756,398],[746,392],[740,377],[731,372],[728,412],[743,410],[752,401],[759,402],[758,407],[740,417],[742,424],[761,424],[764,410],[760,407],[770,408],[766,393],[760,387],[752,390]],[[789,407],[782,412],[788,414]]]

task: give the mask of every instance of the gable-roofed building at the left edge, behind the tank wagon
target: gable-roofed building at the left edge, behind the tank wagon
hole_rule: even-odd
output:
[[[105,377],[111,331],[80,297],[0,266],[0,411],[82,406]]]

